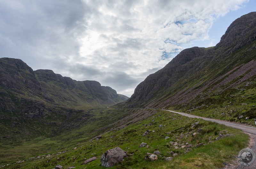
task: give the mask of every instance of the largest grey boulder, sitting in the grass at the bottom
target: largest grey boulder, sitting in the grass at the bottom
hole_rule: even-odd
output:
[[[126,157],[126,152],[119,147],[115,147],[102,154],[100,162],[104,167],[113,167],[118,161],[122,161]]]

